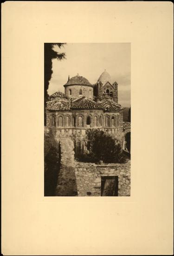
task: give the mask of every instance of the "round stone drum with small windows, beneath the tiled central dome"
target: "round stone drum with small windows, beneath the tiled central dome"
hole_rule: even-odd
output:
[[[79,94],[79,90],[82,90],[82,94]],[[71,90],[71,94],[70,94]],[[69,85],[65,87],[65,95],[67,97],[77,98],[79,96],[85,96],[87,98],[93,98],[93,87],[84,85]]]

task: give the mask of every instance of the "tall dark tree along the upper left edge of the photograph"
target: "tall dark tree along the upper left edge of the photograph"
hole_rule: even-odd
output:
[[[61,48],[65,43],[45,43],[44,44],[44,124],[46,125],[46,101],[48,101],[48,87],[49,81],[52,78],[52,60],[58,59],[61,61],[65,59],[65,53],[58,53],[54,50],[54,46]]]

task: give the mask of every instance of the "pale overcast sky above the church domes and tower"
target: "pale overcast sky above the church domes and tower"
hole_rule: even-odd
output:
[[[49,95],[56,91],[64,93],[68,75],[71,78],[78,73],[94,84],[106,69],[112,82],[118,83],[118,102],[130,107],[130,43],[67,43],[55,50],[64,52],[66,59],[52,61]]]

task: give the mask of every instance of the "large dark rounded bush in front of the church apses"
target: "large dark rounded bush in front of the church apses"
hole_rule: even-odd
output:
[[[99,129],[86,131],[87,140],[90,143],[90,157],[94,161],[105,163],[126,162],[122,154],[121,145],[110,136]]]

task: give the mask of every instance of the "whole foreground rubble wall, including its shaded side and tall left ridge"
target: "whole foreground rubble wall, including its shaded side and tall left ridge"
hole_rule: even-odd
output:
[[[118,196],[130,195],[130,160],[124,164],[77,162],[70,138],[59,138],[55,146],[60,148],[60,168],[55,196],[100,196],[102,177],[118,177]]]

